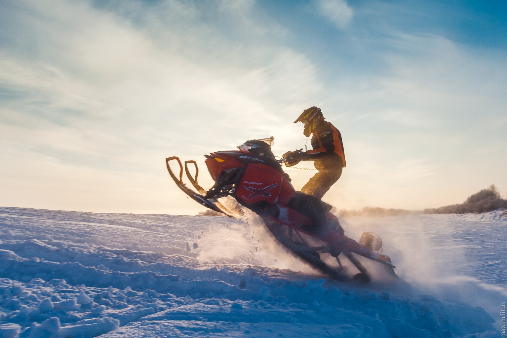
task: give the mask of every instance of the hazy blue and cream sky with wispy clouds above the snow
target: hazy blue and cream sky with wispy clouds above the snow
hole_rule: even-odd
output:
[[[165,158],[210,187],[204,154],[309,146],[314,105],[338,209],[507,198],[506,27],[504,1],[3,0],[0,205],[196,214]]]

